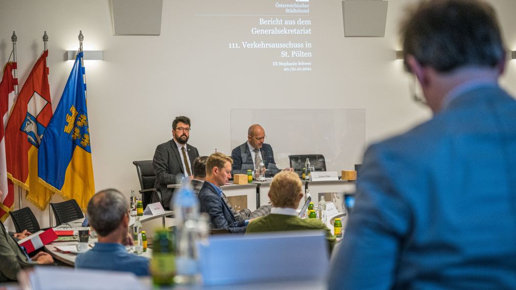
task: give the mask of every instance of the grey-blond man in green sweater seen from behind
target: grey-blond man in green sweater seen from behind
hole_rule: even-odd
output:
[[[292,171],[282,171],[272,179],[269,199],[272,202],[270,215],[256,218],[247,225],[246,234],[276,231],[324,230],[330,252],[335,245],[335,236],[318,219],[300,219],[296,208],[303,198],[299,176]]]

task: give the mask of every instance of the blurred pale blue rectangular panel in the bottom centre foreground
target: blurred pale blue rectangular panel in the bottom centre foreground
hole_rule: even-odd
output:
[[[199,248],[205,285],[321,280],[329,270],[323,231],[214,235]]]

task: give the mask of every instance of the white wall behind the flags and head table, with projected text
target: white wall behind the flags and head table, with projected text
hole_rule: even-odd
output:
[[[132,161],[152,158],[156,145],[171,138],[175,116],[191,118],[189,142],[202,155],[214,148],[230,153],[230,109],[250,108],[251,100],[260,100],[261,108],[365,108],[366,143],[429,118],[429,110],[411,100],[409,77],[394,60],[399,18],[415,0],[389,1],[384,38],[344,38],[341,1],[312,0],[317,63],[311,74],[298,76],[271,72],[253,54],[230,54],[219,45],[232,34],[245,40],[248,33],[237,28],[247,31],[255,18],[193,17],[214,3],[222,10],[224,5],[245,10],[262,1],[275,3],[165,0],[160,36],[113,36],[108,0],[0,0],[0,62],[7,61],[16,30],[23,84],[47,30],[55,108],[72,66],[63,57],[77,48],[78,31],[83,30],[85,50],[104,50],[103,61],[86,62],[95,184],[97,190],[115,187],[126,195],[139,188]],[[516,50],[516,1],[489,2],[499,14],[508,49]],[[228,69],[231,74],[221,73]],[[516,60],[502,79],[513,94],[515,80]],[[279,124],[266,130],[288,128]]]

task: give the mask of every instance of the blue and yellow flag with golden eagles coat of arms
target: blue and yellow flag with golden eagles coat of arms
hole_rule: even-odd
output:
[[[65,199],[75,199],[86,211],[95,185],[82,57],[83,52],[79,52],[41,140],[38,175],[46,187]]]

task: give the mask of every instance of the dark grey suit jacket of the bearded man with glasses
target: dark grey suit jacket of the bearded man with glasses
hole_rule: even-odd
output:
[[[193,165],[193,160],[199,157],[197,148],[186,144],[186,150],[190,164]],[[154,188],[159,189],[162,194],[162,203],[164,207],[170,206],[172,199],[173,188],[167,188],[169,184],[176,184],[178,174],[184,175],[183,163],[181,162],[181,152],[179,152],[174,140],[170,140],[163,144],[159,144],[154,153],[152,165],[154,167],[154,174],[156,174],[156,182]],[[192,169],[190,168],[190,171]],[[156,202],[155,199],[152,202]]]

